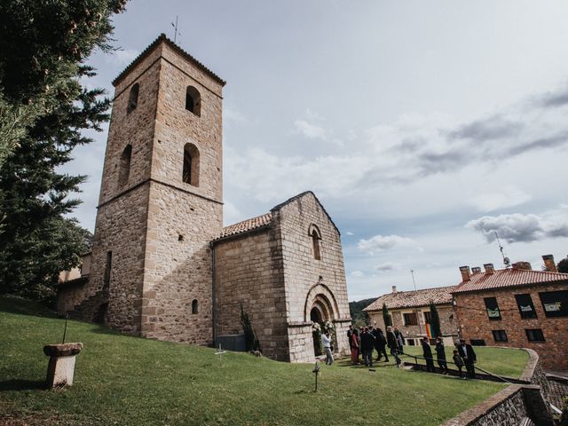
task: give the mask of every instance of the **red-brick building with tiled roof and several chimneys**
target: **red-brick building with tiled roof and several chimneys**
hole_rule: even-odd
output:
[[[496,270],[493,264],[461,266],[454,288],[460,334],[472,344],[530,348],[542,366],[568,369],[568,273],[556,272],[552,256],[542,256],[547,271],[528,262]]]

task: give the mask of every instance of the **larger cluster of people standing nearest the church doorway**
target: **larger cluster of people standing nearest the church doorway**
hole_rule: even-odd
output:
[[[373,350],[377,351],[376,362],[384,357],[384,362],[389,362],[386,348],[389,348],[390,355],[395,359],[397,367],[400,367],[402,361],[399,355],[402,353],[404,346],[404,337],[398,328],[387,327],[387,334],[383,334],[383,330],[378,327],[368,326],[359,327],[359,330],[353,326],[349,326],[347,330],[347,340],[351,348],[351,364],[359,365],[359,356],[367,367],[373,367]]]

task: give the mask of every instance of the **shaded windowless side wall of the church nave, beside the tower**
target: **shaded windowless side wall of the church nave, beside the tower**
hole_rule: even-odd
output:
[[[288,330],[278,235],[272,229],[218,241],[216,335],[242,333],[241,304],[264,356],[288,361]]]

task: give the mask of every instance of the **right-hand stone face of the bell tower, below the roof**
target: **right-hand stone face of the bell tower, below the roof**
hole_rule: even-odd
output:
[[[148,202],[142,335],[211,344],[209,241],[223,225],[221,84],[162,43]],[[188,85],[201,116],[185,109]],[[199,151],[199,182],[183,182],[184,146]],[[197,300],[198,313],[192,313]]]

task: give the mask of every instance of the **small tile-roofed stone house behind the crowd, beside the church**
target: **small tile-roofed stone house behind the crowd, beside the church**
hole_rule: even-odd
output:
[[[430,302],[436,305],[440,319],[440,331],[445,344],[453,345],[458,334],[457,319],[454,318],[452,305],[453,287],[424,288],[415,291],[397,291],[392,286],[392,293],[378,297],[369,304],[364,312],[369,315],[370,323],[374,327],[385,330],[383,319],[383,304],[386,304],[393,327],[398,327],[405,336],[405,343],[420,345],[425,336],[433,335],[427,331],[430,328]],[[430,328],[431,330],[431,328]]]

